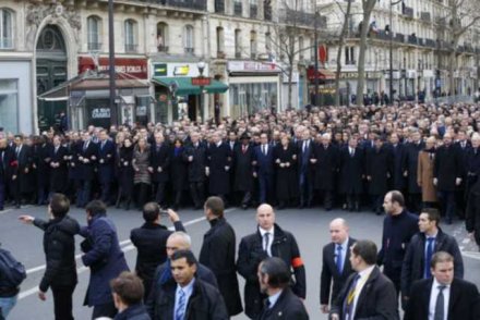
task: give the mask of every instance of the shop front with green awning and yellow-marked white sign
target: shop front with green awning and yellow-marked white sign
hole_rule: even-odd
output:
[[[229,88],[209,77],[205,63],[155,62],[152,71],[157,101],[155,120],[161,123],[170,123],[184,116],[194,121],[199,118],[211,118],[209,95],[225,94]],[[195,83],[199,79],[203,79],[203,83]]]

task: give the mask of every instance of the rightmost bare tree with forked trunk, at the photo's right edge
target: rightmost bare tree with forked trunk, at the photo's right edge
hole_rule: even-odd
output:
[[[479,0],[449,0],[449,32],[452,50],[448,54],[448,85],[452,95],[455,95],[455,67],[457,66],[457,51],[460,37],[480,21]]]

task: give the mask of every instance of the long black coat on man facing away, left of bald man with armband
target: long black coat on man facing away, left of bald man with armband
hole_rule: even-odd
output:
[[[235,264],[235,231],[225,218],[211,220],[209,223],[212,227],[204,235],[199,261],[214,272],[228,315],[235,316],[242,311]]]

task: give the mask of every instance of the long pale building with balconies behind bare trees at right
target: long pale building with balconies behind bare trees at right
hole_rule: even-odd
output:
[[[469,0],[468,0],[469,1]],[[467,3],[466,1],[465,3]],[[319,10],[328,19],[328,69],[336,69],[338,36],[345,20],[333,0],[317,0]],[[344,8],[347,1],[339,2]],[[396,3],[396,4],[395,4]],[[358,58],[362,3],[351,1],[348,33],[341,52],[341,93],[357,91]],[[458,16],[467,7],[460,7]],[[399,98],[416,99],[421,90],[427,99],[436,95],[468,95],[478,88],[480,29],[473,25],[461,35],[456,48],[455,63],[449,63],[453,51],[452,7],[446,0],[379,0],[369,22],[365,56],[365,94],[385,91],[389,95],[391,61],[393,89]],[[459,23],[466,26],[468,19]],[[391,42],[392,41],[392,42]],[[391,60],[391,51],[393,59]],[[453,66],[455,87],[448,82]],[[347,93],[348,88],[348,93]]]

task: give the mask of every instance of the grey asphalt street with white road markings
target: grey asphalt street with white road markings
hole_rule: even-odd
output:
[[[11,312],[9,320],[29,320],[29,319],[52,319],[53,307],[51,293],[48,294],[47,301],[43,303],[37,297],[37,285],[44,272],[45,257],[41,248],[43,233],[35,226],[20,223],[20,214],[32,214],[38,218],[46,218],[45,207],[26,207],[21,210],[8,209],[0,212],[0,242],[2,247],[11,250],[14,256],[22,261],[28,269],[28,276],[22,284],[19,303]],[[131,245],[130,230],[143,223],[139,211],[124,211],[110,209],[108,214],[113,219],[118,227],[119,239],[125,251],[130,268],[133,270],[135,264],[136,251]],[[185,224],[189,234],[193,239],[193,251],[197,255],[202,245],[203,234],[207,231],[208,223],[205,221],[203,211],[179,210],[179,214]],[[243,211],[237,208],[227,210],[227,220],[232,224],[237,234],[237,245],[240,238],[255,231],[255,211],[253,209]],[[85,213],[74,209],[71,216],[85,223]],[[321,271],[321,249],[329,241],[328,222],[337,217],[347,219],[350,225],[350,234],[356,238],[371,238],[376,244],[380,243],[382,234],[383,217],[377,217],[371,212],[351,213],[340,210],[325,212],[319,208],[308,210],[288,209],[277,211],[278,224],[292,232],[300,246],[300,250],[307,268],[308,295],[307,308],[310,319],[326,319],[320,312],[319,292],[320,292],[320,271]],[[168,226],[171,223],[164,221]],[[473,244],[466,238],[464,223],[456,222],[454,225],[445,226],[444,231],[455,234],[464,251],[466,264],[466,279],[480,285],[480,255],[475,249]],[[80,237],[77,238],[77,254]],[[74,294],[74,317],[75,319],[89,319],[92,309],[83,307],[86,286],[88,283],[88,269],[84,268],[81,260],[77,260],[79,285]],[[243,281],[240,279],[241,290]],[[239,316],[235,320],[247,319]]]

